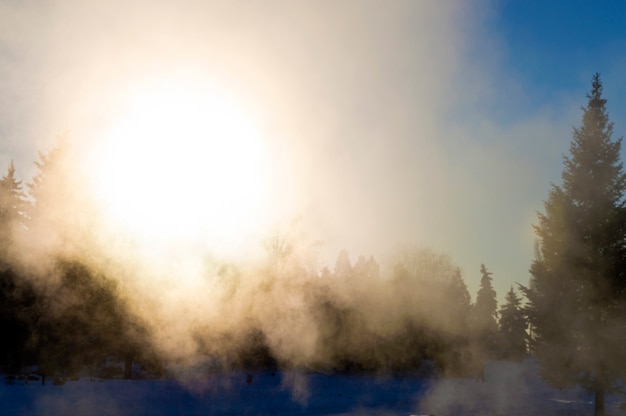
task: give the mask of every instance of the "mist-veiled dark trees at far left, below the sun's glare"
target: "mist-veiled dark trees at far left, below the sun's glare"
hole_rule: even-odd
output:
[[[79,227],[71,224],[89,211],[70,203],[79,192],[63,169],[67,150],[60,145],[40,154],[28,193],[13,163],[0,179],[0,366],[18,371],[36,364],[45,380],[95,371],[117,357],[128,373],[133,358],[152,360],[149,348],[138,347],[140,337],[142,344],[149,337],[128,313],[118,282],[82,252]]]

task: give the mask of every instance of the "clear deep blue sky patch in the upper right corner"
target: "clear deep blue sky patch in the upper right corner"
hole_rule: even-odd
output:
[[[620,107],[626,4],[501,1],[494,3],[493,13],[488,26],[503,47],[502,70],[523,86],[526,111],[554,103],[562,94],[586,91],[594,72],[609,84],[607,97],[615,110]]]

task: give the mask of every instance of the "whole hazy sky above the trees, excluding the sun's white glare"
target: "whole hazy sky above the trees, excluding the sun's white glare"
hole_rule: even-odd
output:
[[[276,222],[297,218],[320,263],[431,247],[472,296],[481,263],[500,297],[527,282],[595,72],[626,132],[619,1],[0,0],[0,23],[0,162],[26,181],[63,131],[99,137],[126,89],[206,74],[262,120]]]

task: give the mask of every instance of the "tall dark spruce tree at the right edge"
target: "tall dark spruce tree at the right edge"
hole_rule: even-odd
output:
[[[626,175],[621,138],[595,74],[582,124],[535,226],[539,250],[524,288],[541,375],[595,395],[595,414],[625,374]]]

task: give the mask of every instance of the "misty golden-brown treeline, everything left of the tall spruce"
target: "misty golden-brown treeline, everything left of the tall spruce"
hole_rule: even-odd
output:
[[[68,147],[60,141],[41,153],[31,183],[22,184],[13,164],[0,180],[4,372],[35,366],[56,378],[160,377],[172,365],[202,362],[479,376],[487,359],[527,353],[521,298],[511,288],[498,309],[485,265],[477,267],[472,303],[445,254],[405,250],[381,271],[373,256],[353,264],[343,250],[334,267],[318,270],[288,235],[267,238],[259,264],[213,261],[206,272],[213,310],[189,318],[184,354],[168,353],[155,335],[168,324],[137,308],[137,298],[150,295],[129,291],[128,264],[94,248],[97,214],[64,169]],[[139,365],[141,374],[133,371]]]

